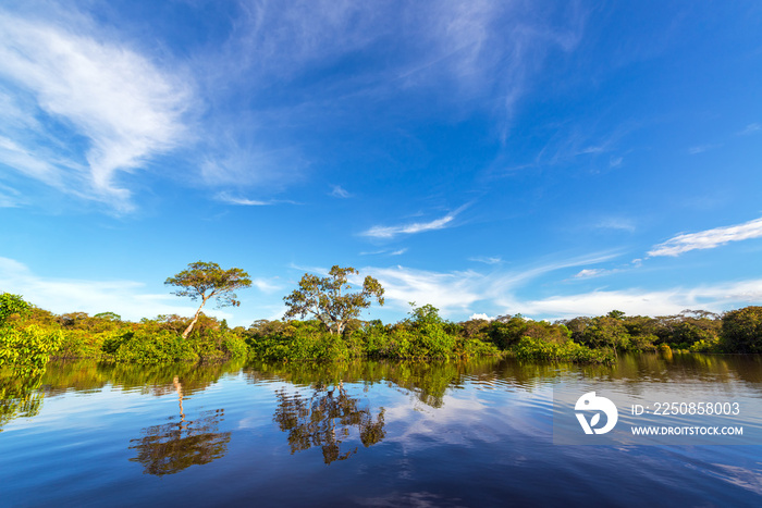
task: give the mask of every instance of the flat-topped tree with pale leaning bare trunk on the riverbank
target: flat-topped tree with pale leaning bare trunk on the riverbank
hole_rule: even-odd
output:
[[[196,261],[195,263],[189,263],[186,270],[173,277],[169,277],[164,281],[164,284],[179,287],[173,295],[188,296],[192,300],[201,299],[201,305],[198,307],[196,315],[193,317],[193,321],[183,332],[183,338],[187,338],[193,326],[198,321],[198,314],[201,313],[201,308],[207,300],[214,298],[218,308],[238,307],[241,301],[236,299],[237,296],[233,292],[249,287],[251,280],[248,273],[239,268],[222,270],[217,263]]]

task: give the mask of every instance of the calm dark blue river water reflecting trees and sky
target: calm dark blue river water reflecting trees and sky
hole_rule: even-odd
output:
[[[1,381],[2,506],[762,506],[762,446],[552,438],[554,387],[720,389],[762,406],[760,357],[69,362],[37,389]]]

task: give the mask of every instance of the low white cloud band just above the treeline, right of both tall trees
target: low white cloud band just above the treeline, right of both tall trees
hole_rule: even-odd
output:
[[[465,319],[476,313],[514,314],[546,319],[576,315],[602,315],[618,309],[629,315],[665,315],[684,309],[705,309],[722,312],[762,300],[762,280],[720,282],[697,286],[675,286],[665,289],[624,288],[598,289],[586,293],[527,298],[521,293],[533,281],[551,272],[612,259],[613,255],[597,253],[555,262],[524,267],[513,271],[481,273],[474,270],[434,272],[406,267],[360,269],[354,284],[371,275],[385,288],[388,306],[408,310],[408,302],[433,305],[446,318]],[[324,269],[308,270],[325,274]],[[595,269],[586,269],[594,276]],[[484,312],[487,310],[487,312]]]

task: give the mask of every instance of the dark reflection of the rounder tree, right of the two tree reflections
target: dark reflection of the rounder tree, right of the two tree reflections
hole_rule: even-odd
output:
[[[351,429],[357,428],[360,443],[367,448],[386,435],[383,430],[384,409],[373,419],[368,407],[359,407],[359,398],[349,397],[343,383],[328,389],[318,386],[310,398],[290,395],[285,389],[275,393],[278,409],[274,421],[288,433],[291,453],[320,446],[323,461],[346,460],[358,447],[342,451],[342,444],[351,438]]]

